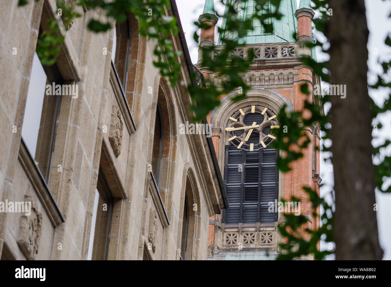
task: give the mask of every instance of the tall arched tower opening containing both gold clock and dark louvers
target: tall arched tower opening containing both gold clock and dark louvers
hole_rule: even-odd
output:
[[[256,105],[242,107],[228,121],[227,128],[259,125],[252,130],[227,131],[224,182],[230,207],[224,210],[222,223],[261,226],[273,225],[277,212],[269,212],[270,202],[278,198],[277,151],[270,148],[271,127],[278,123],[273,111]],[[275,211],[275,212],[274,212]]]

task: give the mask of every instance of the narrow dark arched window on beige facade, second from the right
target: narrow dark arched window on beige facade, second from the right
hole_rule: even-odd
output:
[[[161,120],[161,111],[159,104],[156,107],[155,128],[153,134],[152,146],[152,174],[156,185],[160,183],[161,152],[163,150],[163,123]]]

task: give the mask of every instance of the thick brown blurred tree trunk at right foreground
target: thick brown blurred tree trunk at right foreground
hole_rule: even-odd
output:
[[[368,27],[364,0],[329,0],[332,85],[346,85],[346,98],[330,95],[335,180],[334,238],[337,260],[381,260],[372,165],[368,95]]]

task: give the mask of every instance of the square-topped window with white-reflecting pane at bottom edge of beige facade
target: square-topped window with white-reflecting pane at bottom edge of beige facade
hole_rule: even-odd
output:
[[[93,240],[90,235],[88,259],[107,260],[113,207],[113,196],[111,195],[103,172],[99,169],[97,190],[95,191],[93,219],[91,223]],[[90,251],[91,248],[92,251]]]

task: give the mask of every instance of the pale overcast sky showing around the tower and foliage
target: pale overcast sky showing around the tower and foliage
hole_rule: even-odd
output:
[[[300,0],[297,0],[298,6]],[[198,20],[198,17],[203,12],[204,0],[176,0],[179,16],[181,18],[181,24],[183,31],[185,32],[185,37],[190,51],[190,56],[192,62],[197,62],[198,54],[198,44],[195,43],[193,39],[193,34],[196,30],[194,26],[194,21]],[[215,9],[219,14],[224,13],[224,5],[220,3],[220,0],[215,0]],[[382,68],[378,62],[380,59],[389,59],[391,55],[391,49],[384,45],[384,39],[386,35],[390,33],[391,21],[388,16],[391,13],[391,4],[389,1],[382,0],[366,0],[366,9],[367,9],[367,18],[368,18],[368,28],[370,31],[368,50],[369,50],[369,73],[368,78],[369,82],[375,81],[377,78],[376,74],[382,71]],[[221,19],[217,23],[217,26],[221,25]],[[199,33],[198,33],[199,34]],[[315,33],[315,36],[317,33]],[[218,34],[216,29],[215,42],[217,43]],[[317,52],[317,59],[319,62],[325,61],[327,59],[319,51]],[[379,91],[369,91],[370,96],[377,102],[382,103],[384,98],[389,94],[389,91],[379,90]],[[327,112],[330,109],[329,106],[325,106],[325,111]],[[380,119],[384,129],[386,130],[383,133],[379,133],[380,140],[373,141],[374,144],[382,143],[385,138],[391,140],[391,111]],[[390,154],[390,149],[386,151],[387,154]],[[321,153],[322,159],[326,157],[325,153]],[[328,172],[329,163],[325,163],[321,160],[321,178],[323,179],[322,183],[325,184],[321,189],[321,195],[325,196],[330,192],[332,186],[334,185],[334,175],[332,172]],[[386,182],[385,184],[389,184]],[[384,250],[383,259],[391,260],[391,195],[377,192],[376,200],[378,203],[378,226],[379,226],[379,239],[380,245]],[[323,244],[322,244],[323,245]],[[324,247],[322,246],[322,249]],[[330,258],[331,259],[331,258]]]

